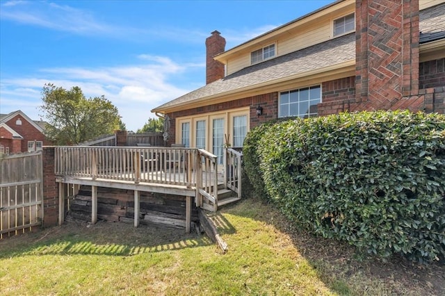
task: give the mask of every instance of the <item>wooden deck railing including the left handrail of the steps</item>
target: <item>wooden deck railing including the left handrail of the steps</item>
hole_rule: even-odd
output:
[[[196,188],[196,204],[218,202],[218,163],[204,149],[170,147],[56,147],[56,176]]]

